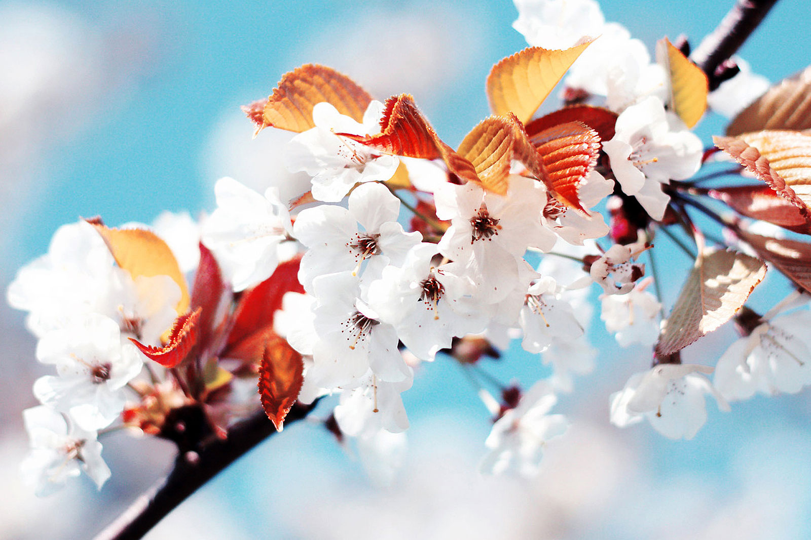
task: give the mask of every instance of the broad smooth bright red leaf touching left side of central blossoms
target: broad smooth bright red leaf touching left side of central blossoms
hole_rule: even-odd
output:
[[[304,293],[304,288],[298,283],[300,262],[300,255],[281,262],[268,279],[242,294],[234,311],[234,325],[223,356],[253,360],[261,355],[261,350],[251,351],[261,345],[263,340],[260,336],[272,329],[273,316],[281,308],[281,298],[285,292]]]

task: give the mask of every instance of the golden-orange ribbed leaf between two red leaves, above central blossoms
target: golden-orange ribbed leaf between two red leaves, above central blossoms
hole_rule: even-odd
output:
[[[462,140],[457,153],[473,164],[485,189],[500,195],[507,193],[513,159],[521,161],[536,178],[543,178],[538,153],[513,113],[479,122]]]

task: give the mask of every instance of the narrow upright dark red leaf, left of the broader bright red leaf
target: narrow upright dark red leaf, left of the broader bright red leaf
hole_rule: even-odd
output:
[[[217,326],[217,315],[223,315],[222,306],[230,302],[231,291],[225,287],[220,266],[211,251],[200,242],[200,265],[197,266],[194,286],[191,287],[191,309],[200,308],[200,345],[207,347]]]

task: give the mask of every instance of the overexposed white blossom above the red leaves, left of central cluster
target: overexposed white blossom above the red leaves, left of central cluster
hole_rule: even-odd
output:
[[[214,185],[217,210],[203,226],[203,243],[211,249],[225,279],[242,291],[268,279],[279,261],[279,243],[291,229],[287,207],[275,188],[264,197],[233,178]]]

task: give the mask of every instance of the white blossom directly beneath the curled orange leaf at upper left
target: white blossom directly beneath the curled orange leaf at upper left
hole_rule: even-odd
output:
[[[384,104],[372,101],[363,115],[363,124],[338,113],[328,103],[312,109],[315,127],[296,135],[286,147],[290,172],[305,171],[312,176],[312,196],[324,202],[339,202],[358,182],[387,181],[394,176],[397,156],[363,146],[338,134],[380,133]]]

